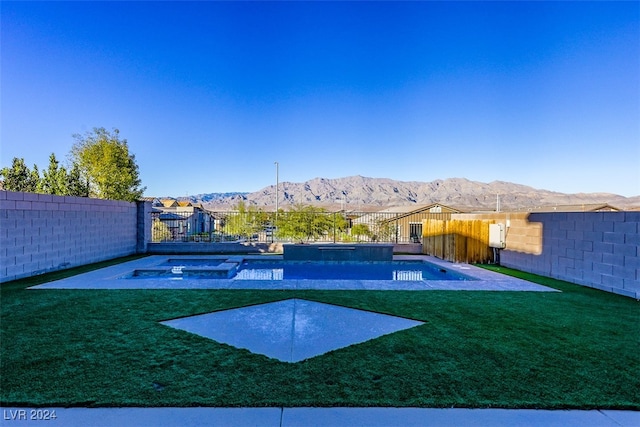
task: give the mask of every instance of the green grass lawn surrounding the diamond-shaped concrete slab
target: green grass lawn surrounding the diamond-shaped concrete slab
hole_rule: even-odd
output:
[[[108,264],[0,286],[2,405],[640,409],[630,298],[505,268],[562,293],[26,289]],[[295,364],[158,323],[292,297],[426,323]]]

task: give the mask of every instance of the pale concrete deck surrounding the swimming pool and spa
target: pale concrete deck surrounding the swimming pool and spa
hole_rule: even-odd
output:
[[[278,255],[233,256],[166,256],[154,255],[66,279],[56,280],[30,289],[263,289],[263,290],[450,290],[450,291],[528,291],[559,292],[555,289],[515,277],[506,276],[469,264],[451,263],[426,255],[394,256],[394,261],[426,261],[440,268],[471,276],[474,280],[238,280],[234,278],[131,277],[136,269],[149,269],[169,259],[212,259],[240,263],[243,259],[281,261]]]

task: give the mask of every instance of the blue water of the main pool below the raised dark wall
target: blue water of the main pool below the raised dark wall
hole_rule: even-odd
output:
[[[427,262],[243,262],[236,280],[473,280]]]

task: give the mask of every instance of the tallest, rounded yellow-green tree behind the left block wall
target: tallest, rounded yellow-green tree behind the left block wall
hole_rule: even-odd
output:
[[[94,128],[73,135],[71,158],[89,184],[89,195],[101,199],[135,201],[144,193],[135,156],[120,131]]]

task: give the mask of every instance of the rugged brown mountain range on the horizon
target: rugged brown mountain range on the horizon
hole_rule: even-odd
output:
[[[239,202],[265,209],[276,205],[276,186],[252,193],[207,193],[179,200],[201,203],[211,210],[233,209]],[[542,206],[609,204],[621,209],[638,209],[640,196],[610,193],[565,194],[504,181],[483,183],[465,178],[431,182],[396,181],[387,178],[350,176],[312,180],[278,186],[278,206],[311,204],[328,209],[378,210],[390,206],[441,203],[466,210],[494,209],[499,198],[501,210],[526,210]]]

